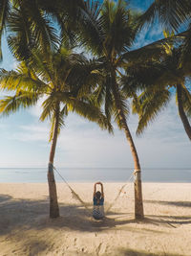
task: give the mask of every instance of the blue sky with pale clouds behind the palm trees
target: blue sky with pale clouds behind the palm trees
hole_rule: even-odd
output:
[[[151,0],[131,1],[131,6],[145,10]],[[162,37],[162,29],[143,29],[135,48]],[[16,61],[3,40],[3,62],[0,67],[11,70]],[[0,92],[0,97],[6,95]],[[0,168],[47,167],[51,145],[49,122],[39,121],[40,105],[20,110],[0,119]],[[190,141],[183,129],[175,97],[163,109],[145,132],[137,137],[138,117],[130,115],[128,125],[132,132],[143,168],[189,168]],[[58,137],[54,165],[67,168],[131,168],[134,166],[129,145],[121,130],[108,134],[96,124],[71,114]]]

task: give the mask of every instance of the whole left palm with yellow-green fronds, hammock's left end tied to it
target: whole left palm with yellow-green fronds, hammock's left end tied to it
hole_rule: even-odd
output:
[[[59,216],[56,186],[53,175],[53,159],[57,136],[70,111],[96,122],[101,128],[112,127],[98,107],[91,104],[86,97],[90,91],[89,84],[96,84],[94,61],[88,61],[83,55],[60,48],[52,53],[49,60],[39,51],[33,52],[31,62],[22,61],[16,71],[1,70],[1,89],[14,91],[14,96],[0,101],[0,112],[9,115],[21,107],[35,105],[39,98],[46,99],[42,104],[40,120],[51,120],[50,141],[52,141],[48,182],[50,195],[50,217]]]

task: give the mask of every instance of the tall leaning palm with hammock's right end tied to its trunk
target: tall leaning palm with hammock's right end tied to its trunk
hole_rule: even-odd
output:
[[[93,93],[93,101],[99,106],[103,105],[109,121],[114,117],[118,128],[124,131],[130,145],[135,164],[135,217],[142,219],[144,215],[140,164],[127,125],[129,109],[120,84],[125,62],[140,53],[137,51],[129,53],[137,33],[138,14],[127,10],[123,1],[116,3],[109,0],[104,1],[99,10],[93,11],[90,12],[91,19],[84,17],[77,39],[99,63],[97,74],[100,79]]]

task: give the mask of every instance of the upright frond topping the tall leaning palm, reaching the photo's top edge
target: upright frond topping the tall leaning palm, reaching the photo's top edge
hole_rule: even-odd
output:
[[[104,32],[104,47],[111,56],[126,52],[136,36],[138,13],[131,12],[123,1],[105,1],[101,19]]]

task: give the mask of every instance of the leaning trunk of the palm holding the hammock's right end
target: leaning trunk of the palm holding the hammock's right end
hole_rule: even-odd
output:
[[[126,117],[120,104],[120,95],[117,88],[116,78],[113,81],[115,81],[113,84],[113,94],[114,94],[115,103],[117,106],[118,116],[134,158],[135,219],[141,220],[144,218],[144,212],[143,212],[143,203],[142,203],[141,172],[140,172],[140,164],[138,160],[138,152],[136,150],[136,146],[134,144],[130,130],[127,126]]]

